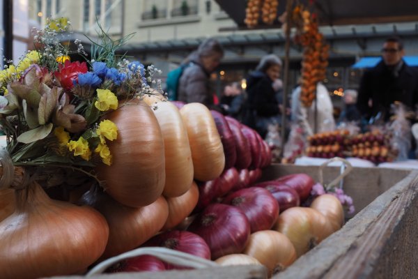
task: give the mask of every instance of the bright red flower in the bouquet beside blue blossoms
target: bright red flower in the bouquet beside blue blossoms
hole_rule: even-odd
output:
[[[61,84],[61,87],[69,91],[72,89],[72,86],[74,86],[74,82],[78,81],[79,73],[87,73],[86,62],[70,62],[67,60],[64,65],[59,64],[59,70],[55,72],[54,75],[56,80]]]

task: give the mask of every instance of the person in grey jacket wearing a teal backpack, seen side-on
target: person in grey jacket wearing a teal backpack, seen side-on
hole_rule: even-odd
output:
[[[213,38],[204,40],[185,62],[178,84],[178,100],[185,103],[202,103],[209,109],[219,110],[215,105],[214,90],[210,86],[210,73],[219,65],[224,49]]]

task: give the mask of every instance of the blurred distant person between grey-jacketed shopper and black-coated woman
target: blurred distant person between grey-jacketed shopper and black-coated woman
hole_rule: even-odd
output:
[[[245,93],[238,82],[226,85],[224,93],[220,100],[220,105],[224,114],[229,115],[235,119],[241,120],[242,106],[245,102]]]

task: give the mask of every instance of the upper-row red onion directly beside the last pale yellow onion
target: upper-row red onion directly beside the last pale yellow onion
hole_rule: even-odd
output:
[[[249,142],[242,135],[241,124],[236,119],[233,119],[230,116],[225,116],[226,121],[228,121],[229,128],[231,129],[233,138],[235,140],[235,148],[237,159],[235,161],[236,169],[247,169],[251,164],[251,149]]]

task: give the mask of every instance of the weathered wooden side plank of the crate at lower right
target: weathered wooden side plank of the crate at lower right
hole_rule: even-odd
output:
[[[412,255],[418,248],[418,244],[415,244],[418,243],[418,216],[414,216],[418,206],[417,193],[418,171],[413,171],[357,213],[342,229],[273,278],[374,279],[373,276],[378,274],[382,276],[380,278],[418,278],[417,267],[405,271],[411,263],[418,262],[418,256]],[[401,247],[405,248],[405,255],[411,258],[406,261],[403,257],[397,261],[392,258],[393,263],[389,266],[410,273],[412,277],[391,277],[392,273],[384,275],[376,267],[378,263],[390,262],[387,249],[396,248],[398,241],[394,239],[398,237],[408,240],[409,245],[403,244]],[[389,246],[390,243],[392,245]]]

